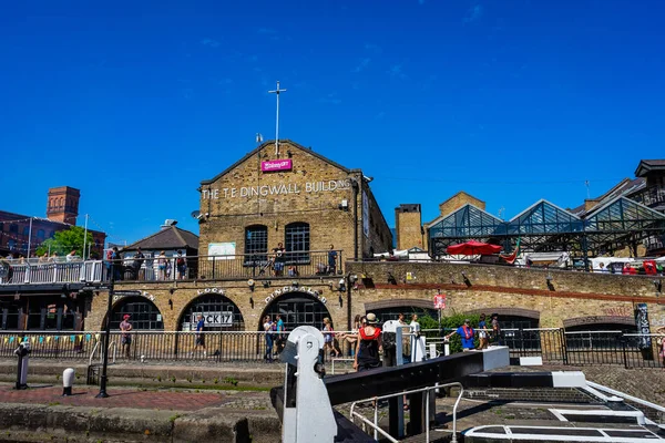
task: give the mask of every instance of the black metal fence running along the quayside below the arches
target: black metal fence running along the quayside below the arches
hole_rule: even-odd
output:
[[[428,342],[442,347],[447,331],[423,331]],[[0,332],[0,358],[14,358],[21,342],[29,342],[31,358],[99,361],[104,332],[50,331]],[[212,362],[258,362],[277,359],[288,332],[111,332],[109,352],[115,360]],[[634,334],[621,331],[565,332],[563,329],[505,329],[501,344],[511,358],[541,357],[543,363],[567,365],[618,364],[625,368],[664,368],[662,334]],[[324,358],[352,354],[356,336],[336,332]],[[407,339],[408,340],[408,339]],[[332,343],[335,346],[332,346]],[[408,346],[408,344],[407,344]],[[441,350],[442,353],[442,350]]]

